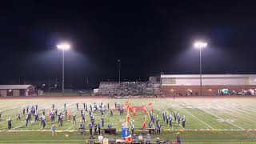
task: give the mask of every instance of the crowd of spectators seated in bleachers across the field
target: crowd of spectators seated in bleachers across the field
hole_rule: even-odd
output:
[[[98,87],[99,95],[158,95],[161,93],[160,84],[150,82],[101,82]]]

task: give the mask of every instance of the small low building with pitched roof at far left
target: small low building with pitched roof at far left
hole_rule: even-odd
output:
[[[0,96],[30,96],[34,94],[32,85],[0,85]]]

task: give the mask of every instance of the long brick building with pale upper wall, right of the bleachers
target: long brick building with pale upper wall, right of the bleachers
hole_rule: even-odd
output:
[[[162,94],[199,95],[199,74],[160,75]],[[256,74],[202,74],[202,95],[216,95],[220,90],[230,94],[256,89]]]

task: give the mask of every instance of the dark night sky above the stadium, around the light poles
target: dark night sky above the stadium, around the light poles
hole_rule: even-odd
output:
[[[146,81],[150,75],[198,74],[196,39],[204,39],[204,74],[255,74],[254,1],[0,1],[0,83]]]

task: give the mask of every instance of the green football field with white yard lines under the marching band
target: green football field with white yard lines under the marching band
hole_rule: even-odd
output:
[[[23,106],[38,104],[39,118],[42,109],[46,109],[46,114],[51,110],[54,103],[58,111],[63,111],[63,104],[66,102],[66,109],[72,114],[76,114],[77,123],[73,123],[69,118],[64,118],[63,125],[57,123],[57,136],[51,136],[50,128],[52,123],[46,118],[46,127],[42,128],[40,121],[32,121],[26,127],[26,115],[22,115],[22,121],[16,121],[16,114],[22,114]],[[84,143],[89,138],[78,134],[80,125],[80,110],[76,109],[75,103],[79,102],[79,109],[82,109],[82,102],[93,105],[94,102],[100,104],[110,103],[110,108],[114,109],[114,102],[130,102],[132,106],[146,106],[147,112],[137,110],[136,115],[130,114],[130,119],[134,122],[135,129],[142,128],[142,121],[146,118],[150,122],[150,111],[154,109],[154,115],[158,116],[162,125],[162,134],[152,134],[151,138],[162,138],[171,141],[175,140],[179,132],[182,143],[256,143],[256,98],[128,98],[128,99],[106,99],[106,98],[83,98],[83,97],[54,97],[54,98],[12,98],[0,99],[0,110],[2,118],[0,121],[0,143]],[[152,104],[151,104],[152,103]],[[186,117],[186,127],[173,122],[173,126],[163,122],[162,111],[168,114],[179,113],[181,117]],[[114,116],[110,117],[110,110],[105,111],[105,126],[111,124],[117,128],[117,135],[104,135],[106,138],[121,138],[121,125],[126,119],[126,111],[120,116],[114,110]],[[12,118],[12,129],[7,130],[6,119]],[[101,122],[101,114],[94,113],[95,122]],[[89,114],[86,113],[86,127],[90,122]],[[155,125],[154,125],[155,126]],[[87,128],[88,130],[88,128]],[[135,134],[142,134],[142,130],[135,130]],[[98,137],[96,137],[98,138]]]

